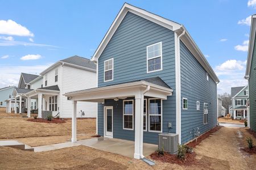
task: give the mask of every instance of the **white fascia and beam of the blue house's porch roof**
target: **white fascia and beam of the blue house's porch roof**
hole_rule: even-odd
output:
[[[159,86],[148,82],[133,82],[117,84],[113,86],[90,88],[87,90],[68,92],[64,94],[67,97],[71,97],[76,101],[94,101],[104,102],[105,99],[126,98],[135,96],[142,91],[145,91],[150,86],[149,90],[144,96],[158,97],[160,99],[167,99],[167,96],[172,95],[172,89]]]

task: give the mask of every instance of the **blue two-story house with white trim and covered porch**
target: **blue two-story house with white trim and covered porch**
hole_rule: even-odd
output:
[[[65,96],[74,112],[77,101],[97,102],[97,133],[134,141],[134,158],[143,158],[143,142],[157,144],[159,133],[186,143],[193,129],[202,134],[217,125],[219,80],[183,25],[125,3],[92,61],[98,87]]]

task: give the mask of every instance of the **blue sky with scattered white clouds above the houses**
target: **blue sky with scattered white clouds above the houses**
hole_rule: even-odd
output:
[[[256,1],[0,1],[0,88],[69,56],[90,58],[123,3],[183,24],[219,76],[218,92],[243,79]],[[247,18],[247,20],[246,20]]]

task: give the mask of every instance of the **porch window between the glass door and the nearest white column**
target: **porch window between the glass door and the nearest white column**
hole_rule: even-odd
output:
[[[133,100],[123,100],[123,129],[133,130]]]

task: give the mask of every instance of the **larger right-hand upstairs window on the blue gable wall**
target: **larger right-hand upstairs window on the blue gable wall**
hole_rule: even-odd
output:
[[[147,73],[162,70],[162,42],[147,46]]]

